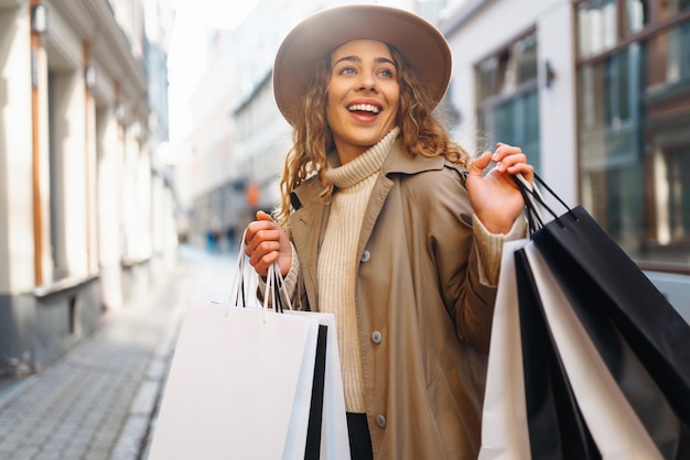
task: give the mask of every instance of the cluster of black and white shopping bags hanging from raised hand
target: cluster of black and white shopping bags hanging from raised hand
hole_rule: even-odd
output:
[[[567,211],[517,180],[530,238],[504,245],[479,459],[689,459],[690,326],[536,180]]]

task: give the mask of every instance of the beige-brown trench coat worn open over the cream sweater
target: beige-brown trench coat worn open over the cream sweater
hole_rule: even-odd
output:
[[[479,282],[465,173],[398,141],[377,179],[358,251],[356,308],[375,459],[476,459],[495,289]],[[292,195],[295,303],[317,310],[328,218],[312,178]]]

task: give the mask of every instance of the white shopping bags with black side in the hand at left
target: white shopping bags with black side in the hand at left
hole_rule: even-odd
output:
[[[349,458],[334,316],[283,309],[276,271],[247,305],[244,260],[231,303],[188,306],[149,458]]]

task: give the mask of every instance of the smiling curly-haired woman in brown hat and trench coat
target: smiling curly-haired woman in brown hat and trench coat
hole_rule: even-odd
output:
[[[435,28],[379,6],[319,12],[277,54],[294,144],[246,252],[260,275],[278,263],[300,308],[335,314],[353,459],[479,449],[502,244],[525,233],[511,175],[532,168],[449,139],[432,110],[450,74]]]

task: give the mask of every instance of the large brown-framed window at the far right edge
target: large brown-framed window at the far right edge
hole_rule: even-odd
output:
[[[634,259],[683,266],[690,263],[689,6],[591,0],[575,7],[582,204]],[[593,24],[599,37],[615,29],[615,40],[593,39]]]

